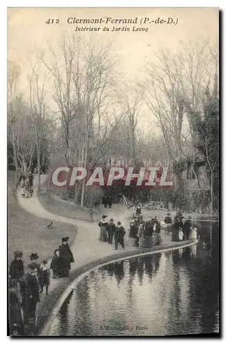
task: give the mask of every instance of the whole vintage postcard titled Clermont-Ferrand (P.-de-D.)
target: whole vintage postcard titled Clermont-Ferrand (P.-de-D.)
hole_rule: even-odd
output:
[[[220,335],[218,40],[218,8],[8,8],[8,335]]]

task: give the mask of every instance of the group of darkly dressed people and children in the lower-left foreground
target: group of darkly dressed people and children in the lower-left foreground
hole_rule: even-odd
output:
[[[50,267],[47,260],[38,263],[38,254],[32,252],[26,273],[23,252],[14,252],[9,270],[10,335],[24,335],[25,325],[34,322],[36,306],[44,287],[49,295],[50,269],[53,270],[53,279],[68,276],[74,262],[68,241],[69,237],[62,238],[62,244],[53,252]]]

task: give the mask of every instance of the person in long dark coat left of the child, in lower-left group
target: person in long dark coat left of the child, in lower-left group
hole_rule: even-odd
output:
[[[33,263],[30,263],[27,265],[27,268],[28,272],[25,276],[27,284],[27,315],[29,322],[33,322],[36,314],[37,303],[40,302],[39,285],[36,266]]]

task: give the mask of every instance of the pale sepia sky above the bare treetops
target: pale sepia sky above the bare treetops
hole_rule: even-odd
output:
[[[68,24],[69,17],[76,19],[136,19],[137,24]],[[142,23],[148,18],[178,21],[175,24]],[[48,19],[58,19],[59,23],[46,24]],[[147,19],[146,19],[147,20]],[[96,39],[112,41],[116,54],[120,56],[121,70],[127,80],[138,77],[145,60],[155,61],[155,51],[167,47],[177,51],[179,41],[218,40],[218,8],[9,8],[8,9],[8,58],[21,66],[21,84],[27,87],[27,71],[30,56],[35,51],[60,45],[62,32],[72,34],[75,27],[100,27],[99,32],[79,32]],[[108,27],[110,32],[103,32]],[[127,32],[111,32],[112,27],[129,27]],[[133,32],[144,28],[147,32]],[[145,121],[142,113],[140,125]],[[145,124],[146,125],[146,124]]]

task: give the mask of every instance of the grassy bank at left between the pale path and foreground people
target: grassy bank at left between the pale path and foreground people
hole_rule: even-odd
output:
[[[29,262],[28,255],[37,252],[38,261],[48,259],[53,250],[61,244],[62,237],[75,239],[77,228],[71,224],[53,222],[48,229],[49,220],[36,217],[21,209],[14,196],[14,173],[8,171],[8,257],[12,261],[14,250],[23,251],[23,261]]]

